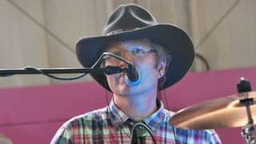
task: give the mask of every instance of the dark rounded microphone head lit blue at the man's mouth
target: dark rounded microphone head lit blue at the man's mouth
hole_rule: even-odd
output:
[[[136,86],[141,81],[140,74],[132,64],[127,64],[125,82],[130,86]]]

